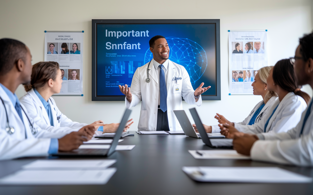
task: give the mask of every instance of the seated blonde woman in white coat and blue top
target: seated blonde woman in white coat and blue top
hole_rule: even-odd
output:
[[[269,71],[274,66],[265,66],[261,68],[258,73],[255,75],[254,82],[252,83],[253,86],[253,95],[261,95],[263,100],[260,101],[255,107],[251,110],[250,114],[245,118],[242,122],[233,123],[228,121],[223,115],[219,115],[216,113],[214,118],[218,119],[219,123],[227,123],[231,124],[235,127],[241,125],[252,125],[259,123],[266,115],[269,110],[269,107],[275,102],[278,98],[277,94],[274,91],[269,91],[267,88],[267,77],[269,76]],[[203,124],[207,133],[219,133],[221,129],[218,125],[208,126]],[[193,127],[198,132],[196,124],[193,124]]]

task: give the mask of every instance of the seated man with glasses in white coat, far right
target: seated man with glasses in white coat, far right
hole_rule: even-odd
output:
[[[313,88],[313,33],[300,38],[295,57],[290,58],[299,85]],[[233,149],[253,160],[298,166],[313,166],[312,100],[297,126],[279,134],[234,136]]]

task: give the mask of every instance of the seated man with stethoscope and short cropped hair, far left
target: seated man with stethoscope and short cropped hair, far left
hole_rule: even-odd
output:
[[[0,39],[0,160],[48,156],[77,149],[103,125],[103,121],[97,121],[69,134],[38,127],[15,94],[20,84],[30,82],[31,60],[25,44]]]

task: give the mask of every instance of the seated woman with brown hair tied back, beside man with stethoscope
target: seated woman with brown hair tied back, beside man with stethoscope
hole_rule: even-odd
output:
[[[67,118],[51,97],[60,92],[62,81],[62,73],[57,62],[38,62],[33,65],[31,82],[29,85],[24,85],[27,94],[20,98],[20,102],[27,108],[29,116],[40,128],[50,132],[69,133],[87,124],[73,122]],[[126,129],[130,125],[128,124]],[[96,133],[114,133],[118,126],[119,123],[104,124]]]

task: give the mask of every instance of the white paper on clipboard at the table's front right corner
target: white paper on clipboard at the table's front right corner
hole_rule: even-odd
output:
[[[312,178],[278,167],[183,167],[200,182],[310,183]]]

